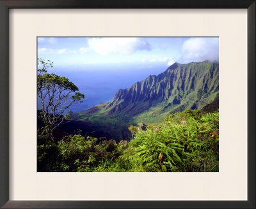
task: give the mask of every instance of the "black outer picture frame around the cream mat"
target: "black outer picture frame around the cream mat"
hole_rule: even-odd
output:
[[[0,207],[1,208],[255,208],[255,0],[0,0]],[[8,14],[10,8],[245,8],[248,11],[247,201],[10,201]],[[26,189],[26,188],[24,188]]]

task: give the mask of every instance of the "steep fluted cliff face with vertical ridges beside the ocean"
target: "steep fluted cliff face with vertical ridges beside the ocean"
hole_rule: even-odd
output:
[[[158,76],[150,75],[127,89],[118,90],[112,101],[101,104],[97,110],[107,115],[138,115],[157,106],[170,113],[200,109],[218,94],[218,78],[216,62],[175,63]]]

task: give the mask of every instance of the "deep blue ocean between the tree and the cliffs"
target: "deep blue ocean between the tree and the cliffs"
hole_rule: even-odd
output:
[[[69,110],[80,112],[88,110],[93,105],[111,101],[119,89],[131,87],[132,84],[145,80],[149,75],[159,75],[167,68],[168,66],[163,64],[147,68],[131,64],[125,68],[118,66],[93,66],[90,69],[76,68],[72,70],[52,68],[48,69],[48,73],[65,76],[70,82],[75,83],[85,98],[83,103],[72,105]],[[40,102],[38,101],[39,108]]]

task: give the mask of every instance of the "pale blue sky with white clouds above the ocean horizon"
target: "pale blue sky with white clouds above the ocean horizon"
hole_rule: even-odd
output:
[[[49,59],[58,69],[67,71],[93,66],[120,69],[134,66],[132,69],[137,70],[157,64],[167,68],[174,62],[218,61],[219,40],[217,37],[38,37],[38,57]]]

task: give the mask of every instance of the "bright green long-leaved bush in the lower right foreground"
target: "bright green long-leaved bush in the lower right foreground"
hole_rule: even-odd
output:
[[[159,129],[138,131],[130,145],[145,171],[218,171],[218,112],[191,113],[168,117]]]

